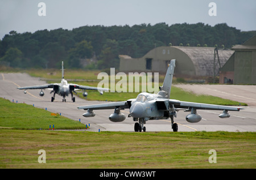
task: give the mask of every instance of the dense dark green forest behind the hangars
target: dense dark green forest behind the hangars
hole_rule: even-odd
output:
[[[0,40],[0,66],[19,68],[104,69],[119,67],[119,54],[142,57],[158,46],[218,46],[242,44],[256,31],[241,32],[226,23],[214,25],[140,24],[47,29],[34,33],[11,31]],[[89,59],[89,60],[88,60]]]

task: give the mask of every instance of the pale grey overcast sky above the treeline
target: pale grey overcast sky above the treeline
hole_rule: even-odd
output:
[[[39,16],[39,2],[46,16]],[[216,3],[210,16],[209,3]],[[255,0],[0,0],[0,39],[10,31],[73,29],[84,25],[227,23],[241,31],[256,30]]]

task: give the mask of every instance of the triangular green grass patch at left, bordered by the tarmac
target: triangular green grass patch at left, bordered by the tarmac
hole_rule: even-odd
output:
[[[47,130],[49,125],[51,128],[54,125],[55,130],[85,128],[79,121],[61,115],[51,115],[51,112],[32,105],[16,104],[0,98],[0,128]]]

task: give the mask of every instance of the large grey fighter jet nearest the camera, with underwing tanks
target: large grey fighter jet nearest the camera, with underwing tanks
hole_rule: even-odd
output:
[[[240,111],[240,109],[243,109],[232,106],[203,104],[170,99],[174,68],[175,59],[172,59],[168,65],[163,85],[159,87],[160,91],[158,94],[142,92],[139,93],[137,98],[129,99],[127,101],[79,106],[78,109],[87,110],[86,113],[82,114],[84,117],[94,117],[95,114],[93,113],[93,110],[114,109],[114,113],[110,115],[109,120],[112,122],[122,122],[126,117],[125,114],[120,113],[120,110],[129,108],[130,114],[128,117],[133,117],[133,121],[137,121],[134,125],[134,131],[136,132],[141,132],[142,130],[146,131],[144,124],[148,120],[168,118],[171,118],[171,127],[173,131],[177,131],[178,126],[177,123],[174,122],[174,117],[177,117],[177,112],[179,112],[179,110],[191,112],[185,117],[185,119],[190,123],[196,123],[202,119],[201,115],[197,114],[197,109],[223,110],[223,113],[218,116],[220,118],[229,118],[230,114],[228,113],[228,110]]]

